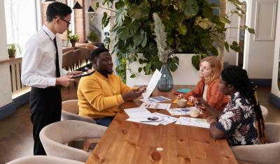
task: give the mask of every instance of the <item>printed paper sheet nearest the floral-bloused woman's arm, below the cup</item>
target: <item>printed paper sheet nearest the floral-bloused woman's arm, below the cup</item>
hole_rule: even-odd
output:
[[[210,128],[206,119],[195,119],[189,117],[180,117],[175,124],[185,125],[185,126],[196,126],[200,128]]]

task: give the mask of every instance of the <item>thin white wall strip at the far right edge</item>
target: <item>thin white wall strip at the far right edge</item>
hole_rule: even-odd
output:
[[[278,8],[280,8],[280,3],[278,3]],[[275,49],[274,49],[274,64],[272,73],[272,94],[280,98],[280,91],[278,87],[278,71],[279,71],[279,50],[280,50],[280,10],[277,11],[277,24],[276,24],[276,39],[275,39]]]

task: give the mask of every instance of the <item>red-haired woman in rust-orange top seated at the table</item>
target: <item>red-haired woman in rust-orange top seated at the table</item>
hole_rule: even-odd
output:
[[[192,103],[197,98],[203,98],[211,107],[223,111],[230,98],[225,96],[219,89],[219,77],[221,75],[221,61],[217,57],[206,57],[200,61],[201,80],[193,91],[179,95]]]

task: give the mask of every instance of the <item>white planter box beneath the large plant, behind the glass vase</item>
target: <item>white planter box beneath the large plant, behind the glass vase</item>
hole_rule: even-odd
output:
[[[179,57],[179,68],[172,73],[174,85],[196,85],[200,80],[199,71],[193,67],[192,57],[195,54],[175,54]],[[141,57],[141,55],[139,55]],[[143,56],[142,56],[143,57]],[[137,73],[140,64],[134,62],[130,64],[130,68]],[[131,78],[130,71],[127,71],[127,85],[133,87],[134,85],[147,85],[151,80],[152,75],[144,75],[142,71],[137,77]]]

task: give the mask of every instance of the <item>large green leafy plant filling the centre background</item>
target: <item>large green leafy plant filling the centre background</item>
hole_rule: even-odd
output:
[[[162,62],[158,57],[158,49],[155,43],[153,13],[158,13],[167,33],[167,45],[174,53],[197,54],[192,58],[192,64],[198,69],[200,59],[208,55],[218,55],[219,45],[224,45],[225,50],[241,52],[241,47],[236,41],[228,43],[225,40],[225,32],[229,28],[246,29],[254,33],[248,27],[226,27],[230,24],[230,16],[243,15],[242,3],[238,0],[228,0],[235,9],[223,16],[214,15],[214,8],[220,8],[215,3],[207,0],[104,0],[107,10],[115,12],[108,15],[104,12],[102,27],[106,27],[111,19],[115,25],[111,29],[114,42],[113,52],[119,59],[117,72],[123,75],[129,66],[123,64],[138,61],[141,64],[138,71],[144,71],[146,75],[155,69],[160,69]],[[225,5],[225,4],[223,4]],[[103,8],[97,3],[97,8]],[[115,10],[116,9],[116,10]],[[106,40],[108,41],[108,40]],[[139,57],[139,53],[144,55]],[[124,59],[124,60],[123,60]],[[169,69],[178,68],[179,59],[170,56],[167,59]],[[135,74],[132,74],[135,77]]]

